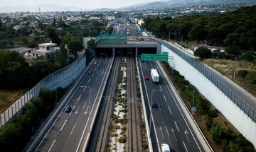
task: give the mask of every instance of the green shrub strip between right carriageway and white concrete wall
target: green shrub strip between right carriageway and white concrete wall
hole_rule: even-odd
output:
[[[161,62],[161,64],[173,81],[174,86],[179,90],[181,98],[183,98],[188,109],[191,109],[193,104],[193,89],[195,89],[194,107],[196,107],[197,112],[193,117],[214,151],[255,151],[252,143],[245,139],[184,76],[171,69],[167,62]]]

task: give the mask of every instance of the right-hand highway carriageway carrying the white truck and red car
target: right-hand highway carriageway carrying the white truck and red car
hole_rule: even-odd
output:
[[[141,62],[140,58],[138,62],[154,151],[161,151],[161,144],[169,144],[172,151],[204,151],[156,62]],[[159,73],[159,83],[151,81],[151,69]],[[156,108],[151,107],[151,98]]]

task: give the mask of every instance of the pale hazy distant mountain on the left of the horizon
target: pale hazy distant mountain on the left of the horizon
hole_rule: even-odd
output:
[[[38,12],[40,7],[40,11],[80,11],[80,8],[77,6],[58,6],[55,4],[36,4],[33,6],[0,6],[0,12],[22,12],[22,11],[30,11],[30,12]]]

